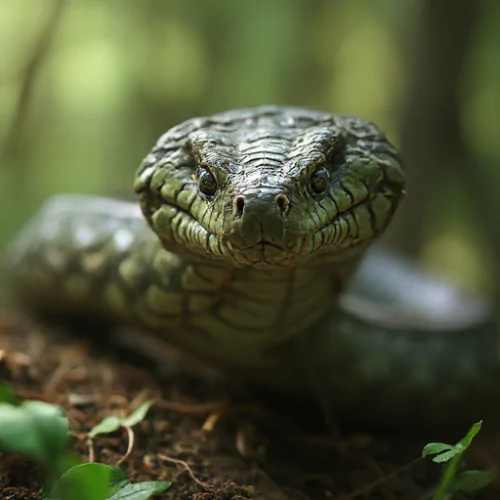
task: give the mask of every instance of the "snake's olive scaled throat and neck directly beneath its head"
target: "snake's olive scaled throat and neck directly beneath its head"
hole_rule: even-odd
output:
[[[345,262],[335,267],[222,268],[184,260],[180,302],[192,307],[179,318],[171,341],[227,368],[274,365],[275,348],[312,333],[331,311],[354,267]],[[157,322],[151,326],[158,331],[170,330],[160,317],[148,314],[147,320]]]

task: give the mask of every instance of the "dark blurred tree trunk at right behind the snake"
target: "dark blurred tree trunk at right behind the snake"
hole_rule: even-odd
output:
[[[495,215],[498,190],[488,192],[488,176],[464,137],[463,81],[471,43],[485,2],[425,0],[409,48],[408,99],[401,121],[401,149],[408,175],[408,196],[390,240],[418,255],[430,231],[449,222],[452,193],[467,200],[481,236],[500,255],[500,220]],[[492,196],[493,195],[493,196]],[[495,274],[499,263],[492,262]]]

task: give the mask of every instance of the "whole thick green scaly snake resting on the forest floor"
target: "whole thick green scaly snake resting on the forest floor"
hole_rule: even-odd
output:
[[[21,308],[133,327],[138,349],[155,339],[291,401],[319,391],[356,425],[498,415],[491,301],[380,242],[405,171],[374,123],[293,106],[191,118],[133,191],[45,202],[6,252]]]

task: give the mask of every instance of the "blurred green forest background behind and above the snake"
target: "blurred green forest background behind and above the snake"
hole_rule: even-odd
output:
[[[129,193],[170,126],[260,104],[379,124],[409,179],[386,241],[497,293],[496,0],[1,0],[0,255],[51,194]]]

